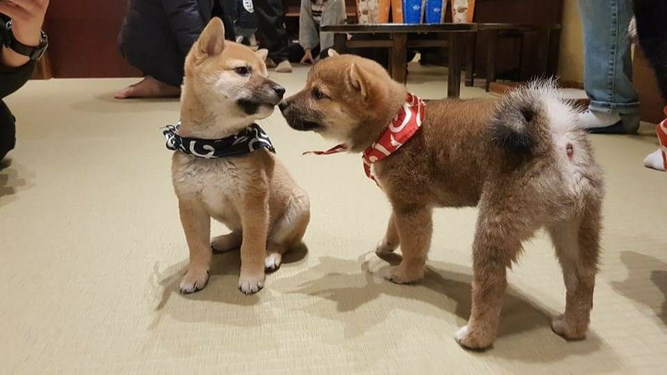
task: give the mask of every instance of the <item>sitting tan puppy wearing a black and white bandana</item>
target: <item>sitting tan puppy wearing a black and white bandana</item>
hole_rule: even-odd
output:
[[[238,288],[258,292],[264,270],[277,269],[306,231],[308,197],[253,124],[268,117],[285,92],[266,78],[266,53],[224,40],[222,22],[214,18],[186,58],[181,124],[165,131],[167,147],[178,150],[172,178],[190,247],[183,293],[206,286],[211,248],[239,246]],[[211,217],[232,232],[211,242]]]

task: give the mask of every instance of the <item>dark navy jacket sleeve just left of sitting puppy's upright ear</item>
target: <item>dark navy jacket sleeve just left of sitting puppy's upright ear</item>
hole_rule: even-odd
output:
[[[201,18],[199,3],[197,0],[162,0],[162,6],[179,49],[186,56],[206,26]]]

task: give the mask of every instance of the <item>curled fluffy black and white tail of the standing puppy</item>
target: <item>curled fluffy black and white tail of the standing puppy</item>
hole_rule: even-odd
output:
[[[508,151],[538,153],[548,146],[545,142],[551,143],[550,110],[563,110],[568,116],[571,110],[557,98],[555,81],[534,81],[512,90],[497,104],[491,139]]]

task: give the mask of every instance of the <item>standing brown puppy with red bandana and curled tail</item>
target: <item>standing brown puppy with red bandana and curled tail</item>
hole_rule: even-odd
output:
[[[335,55],[335,53],[334,53]],[[573,108],[548,83],[494,100],[424,103],[386,71],[358,56],[315,65],[306,87],[279,107],[288,124],[363,152],[366,174],[393,208],[377,252],[401,247],[388,279],[424,277],[435,207],[477,206],[472,246],[472,313],[455,335],[464,347],[495,340],[506,272],[522,243],[541,227],[550,233],[567,288],[553,330],[586,335],[600,249],[602,172]]]

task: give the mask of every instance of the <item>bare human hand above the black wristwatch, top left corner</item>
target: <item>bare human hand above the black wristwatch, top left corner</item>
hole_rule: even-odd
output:
[[[13,20],[12,32],[16,40],[37,47],[48,6],[49,0],[0,0],[0,13]]]

